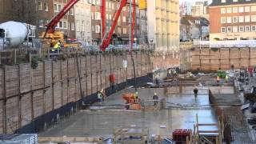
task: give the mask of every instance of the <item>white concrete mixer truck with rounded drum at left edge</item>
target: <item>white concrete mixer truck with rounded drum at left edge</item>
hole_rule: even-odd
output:
[[[36,26],[22,22],[0,24],[0,49],[17,47],[21,44],[32,45]]]

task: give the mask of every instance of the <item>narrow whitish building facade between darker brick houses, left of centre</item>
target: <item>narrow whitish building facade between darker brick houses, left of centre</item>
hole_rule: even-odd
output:
[[[92,42],[91,34],[91,16],[90,3],[87,0],[79,1],[74,6],[74,21],[76,25],[76,38],[78,42],[90,44]]]

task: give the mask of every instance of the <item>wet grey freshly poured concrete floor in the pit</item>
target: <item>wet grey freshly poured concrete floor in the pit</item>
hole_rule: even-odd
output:
[[[106,99],[102,106],[123,105],[123,93],[134,92],[134,89],[119,91]],[[158,89],[138,89],[139,98],[142,100],[151,100],[154,92],[157,92],[161,98],[166,98],[166,105],[180,104],[193,105],[190,109],[184,107],[165,109],[160,111],[141,111],[141,110],[81,110],[77,114],[60,122],[54,128],[46,130],[39,134],[45,137],[110,137],[115,128],[122,126],[146,126],[150,134],[169,136],[176,129],[193,130],[196,123],[196,114],[198,114],[199,123],[216,123],[214,111],[201,106],[209,105],[208,94],[199,94],[197,100],[194,94],[164,94],[162,88]],[[96,103],[94,106],[98,106]],[[164,128],[160,128],[160,127]],[[217,130],[216,126],[202,126],[199,130]]]

